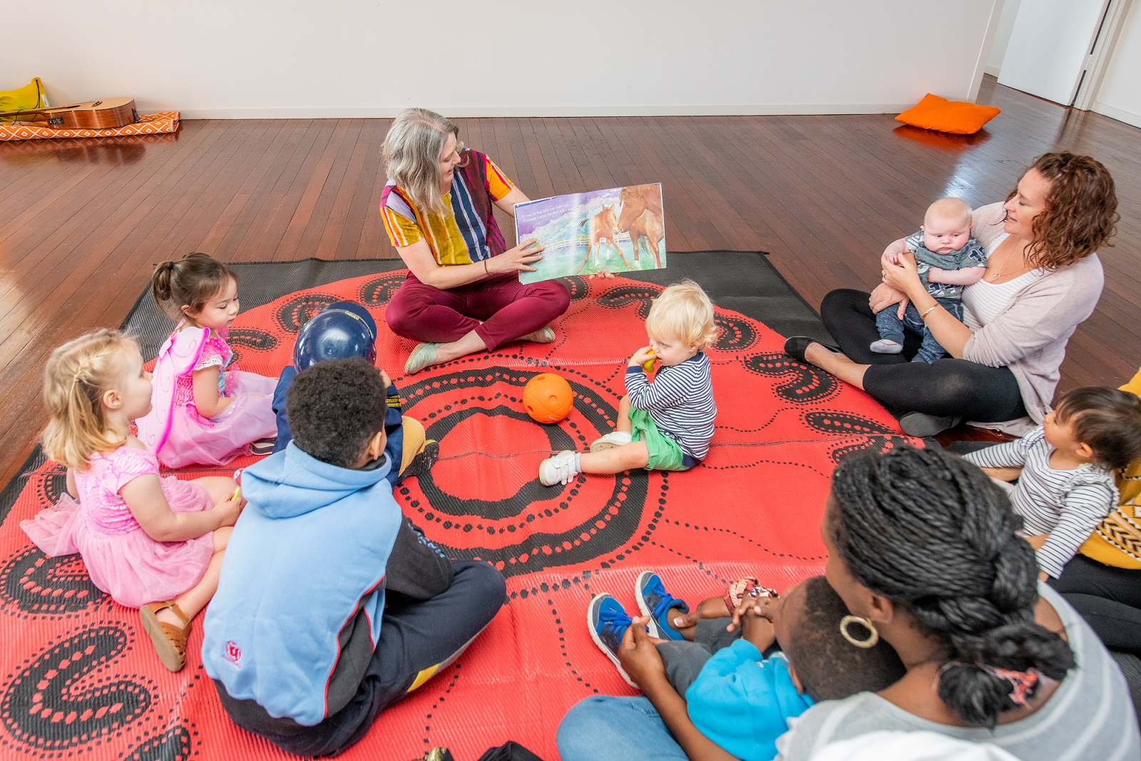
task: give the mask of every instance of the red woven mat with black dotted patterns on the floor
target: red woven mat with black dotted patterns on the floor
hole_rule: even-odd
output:
[[[252,309],[230,344],[244,369],[275,375],[324,304],[361,301],[383,325],[403,277],[341,280]],[[837,458],[908,441],[863,392],[792,361],[764,325],[718,310],[723,330],[709,355],[719,415],[709,458],[687,473],[544,488],[535,475],[551,450],[584,449],[612,428],[625,359],[645,343],[661,289],[621,278],[567,283],[573,302],[552,344],[511,344],[400,378],[411,344],[381,327],[379,363],[396,378],[405,414],[440,442],[431,477],[410,478],[397,500],[453,556],[500,567],[509,599],[458,663],[382,713],[347,759],[404,761],[445,745],[469,761],[507,739],[557,759],[555,731],[570,705],[631,693],[588,635],[594,594],[609,591],[633,611],[633,580],[645,568],[691,602],[745,574],[784,589],[818,573],[822,506]],[[543,370],[560,373],[577,394],[570,417],[555,426],[521,408],[524,384]],[[96,590],[78,556],[49,559],[30,545],[18,522],[64,489],[59,466],[32,465],[17,476],[0,529],[0,756],[284,758],[222,713],[197,655],[200,625],[186,669],[168,673],[137,612]]]

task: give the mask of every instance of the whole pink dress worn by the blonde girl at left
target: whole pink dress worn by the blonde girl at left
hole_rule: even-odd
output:
[[[155,541],[119,496],[135,478],[159,475],[153,453],[120,447],[92,456],[87,470],[74,473],[80,501],[64,494],[55,507],[19,524],[44,555],[79,553],[95,586],[128,607],[172,599],[199,583],[213,556],[212,533]],[[192,481],[167,476],[162,493],[176,513],[213,507],[207,490]]]

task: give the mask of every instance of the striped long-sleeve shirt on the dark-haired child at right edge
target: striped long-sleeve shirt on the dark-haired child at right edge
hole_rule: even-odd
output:
[[[1038,549],[1038,567],[1057,579],[1117,504],[1117,484],[1111,472],[1097,465],[1055,470],[1050,467],[1053,450],[1039,425],[1021,439],[980,449],[966,459],[985,468],[1022,468],[1010,501],[1028,535],[1050,534]]]

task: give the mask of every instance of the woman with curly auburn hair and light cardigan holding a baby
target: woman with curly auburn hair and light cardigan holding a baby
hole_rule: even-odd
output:
[[[1020,435],[1050,410],[1066,343],[1101,296],[1095,252],[1117,219],[1114,179],[1100,162],[1045,154],[1004,204],[974,211],[987,272],[963,289],[963,322],[926,292],[908,254],[881,262],[883,283],[871,295],[844,288],[824,297],[820,316],[837,347],[793,336],[785,351],[867,391],[911,435],[964,419]],[[901,354],[868,349],[879,338],[875,313],[908,301],[950,358],[928,365],[908,361],[917,345]]]

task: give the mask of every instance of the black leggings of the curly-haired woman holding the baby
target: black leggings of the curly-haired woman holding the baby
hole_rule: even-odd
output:
[[[833,291],[820,304],[820,317],[844,354],[872,366],[864,374],[864,390],[876,401],[897,416],[915,411],[979,423],[1026,416],[1022,393],[1010,368],[965,359],[912,362],[921,342],[921,336],[912,333],[905,335],[901,354],[876,354],[868,349],[880,337],[868,297],[863,291]]]

